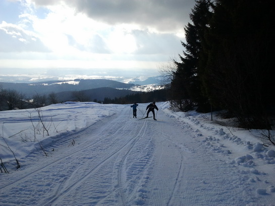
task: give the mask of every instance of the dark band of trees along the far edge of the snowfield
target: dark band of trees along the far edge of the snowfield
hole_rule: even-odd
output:
[[[82,90],[82,91],[71,91],[66,97],[62,96],[61,93],[51,92],[50,94],[34,94],[31,98],[25,94],[16,90],[6,90],[0,88],[0,111],[13,110],[13,109],[28,109],[28,108],[39,108],[50,104],[62,103],[65,101],[76,101],[76,102],[98,102],[103,104],[131,104],[134,102],[147,103],[152,101],[167,101],[168,91],[167,90],[154,90],[150,92],[134,92],[130,90],[116,90],[113,88],[98,88],[94,91],[101,91],[100,96],[106,96],[102,99],[94,98],[97,96],[95,93],[89,91],[93,90]],[[116,91],[118,91],[116,93]],[[124,92],[123,92],[124,91]],[[109,93],[112,92],[121,97],[111,98]],[[129,94],[130,93],[130,94]],[[127,94],[127,95],[123,95]]]

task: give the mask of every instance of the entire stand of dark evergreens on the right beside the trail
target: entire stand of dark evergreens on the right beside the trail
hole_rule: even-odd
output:
[[[173,59],[171,103],[187,111],[224,109],[245,128],[271,129],[274,14],[271,1],[196,0]]]

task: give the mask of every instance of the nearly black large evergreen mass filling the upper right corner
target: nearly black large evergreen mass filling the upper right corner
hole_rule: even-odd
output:
[[[217,0],[202,44],[207,54],[200,66],[205,93],[247,126],[263,122],[272,106],[274,15],[268,2]]]

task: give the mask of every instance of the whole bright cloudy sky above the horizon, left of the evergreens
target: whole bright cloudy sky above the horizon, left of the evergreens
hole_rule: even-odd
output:
[[[158,75],[159,65],[182,54],[183,28],[194,4],[0,0],[0,76]]]

